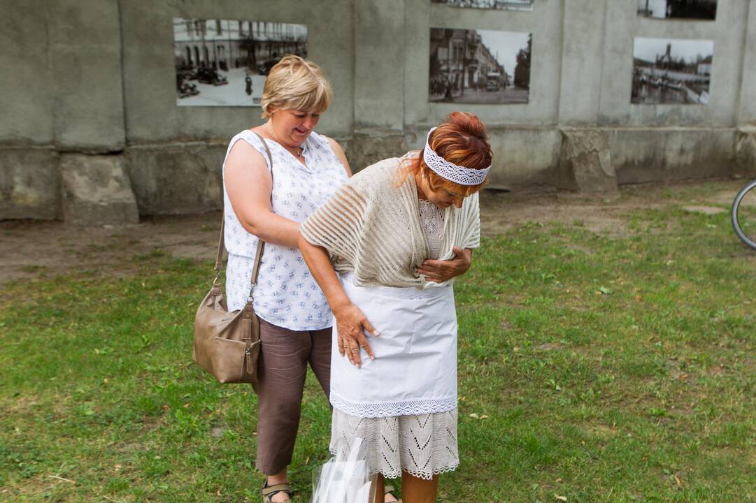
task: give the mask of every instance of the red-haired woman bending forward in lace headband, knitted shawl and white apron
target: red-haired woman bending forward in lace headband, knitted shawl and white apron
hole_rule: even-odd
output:
[[[469,264],[489,168],[485,126],[452,113],[422,152],[364,168],[300,227],[302,256],[335,319],[330,450],[346,458],[352,440],[364,440],[360,456],[380,474],[376,501],[396,501],[383,477],[399,476],[405,503],[435,501],[438,474],[459,464],[451,278],[469,265],[428,260]]]

